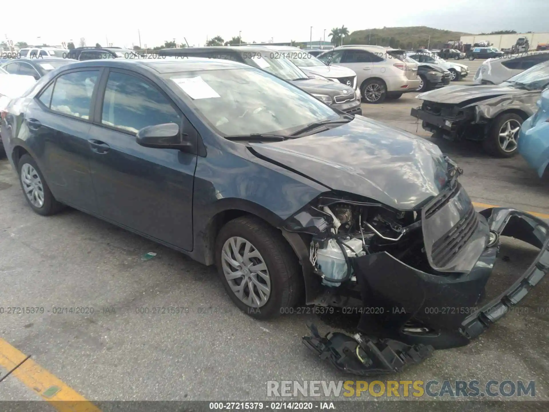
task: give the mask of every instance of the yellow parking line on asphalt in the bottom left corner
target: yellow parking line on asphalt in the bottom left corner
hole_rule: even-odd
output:
[[[4,339],[0,338],[0,366],[12,370],[26,358]],[[101,412],[94,404],[49,373],[32,359],[27,359],[6,379],[17,378],[26,387],[47,400],[59,412]],[[5,382],[5,380],[4,380]],[[0,385],[2,383],[0,382]]]

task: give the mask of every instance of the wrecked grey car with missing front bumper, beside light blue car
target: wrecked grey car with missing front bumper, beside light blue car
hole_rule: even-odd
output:
[[[549,85],[549,62],[536,64],[499,85],[448,86],[421,93],[410,114],[434,137],[481,141],[495,157],[517,153],[520,125],[537,110]]]

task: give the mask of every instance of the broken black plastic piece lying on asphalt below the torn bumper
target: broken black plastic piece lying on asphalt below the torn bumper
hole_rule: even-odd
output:
[[[369,376],[397,373],[408,365],[428,358],[430,345],[407,345],[392,339],[371,339],[357,333],[355,337],[330,332],[321,337],[315,325],[307,322],[312,336],[304,336],[304,345],[329,361],[339,370],[354,375]]]

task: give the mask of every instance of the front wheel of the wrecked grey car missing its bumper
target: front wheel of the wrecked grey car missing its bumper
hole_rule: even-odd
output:
[[[503,113],[492,121],[483,146],[486,152],[495,157],[512,157],[518,150],[518,136],[523,119],[514,113]]]

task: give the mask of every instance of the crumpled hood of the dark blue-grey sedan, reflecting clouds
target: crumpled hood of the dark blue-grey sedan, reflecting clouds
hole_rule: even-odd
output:
[[[250,146],[333,190],[400,210],[417,209],[446,182],[447,163],[438,146],[362,116],[315,135]]]

